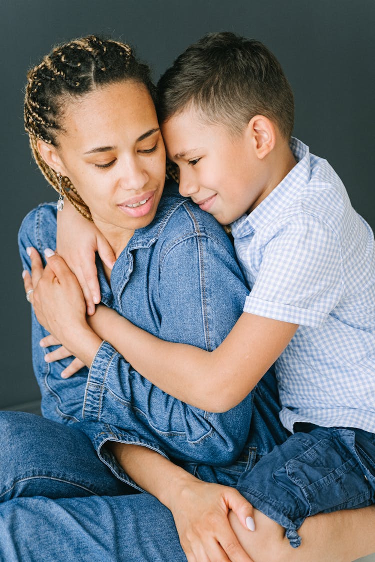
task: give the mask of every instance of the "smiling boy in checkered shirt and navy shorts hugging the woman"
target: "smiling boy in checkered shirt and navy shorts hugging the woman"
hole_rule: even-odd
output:
[[[106,316],[107,339],[135,369],[204,410],[238,404],[275,362],[293,435],[238,489],[299,546],[306,516],[374,502],[373,234],[327,161],[291,139],[291,88],[261,43],[207,35],[165,72],[159,96],[180,192],[231,224],[251,292],[212,352],[101,307],[93,327]]]

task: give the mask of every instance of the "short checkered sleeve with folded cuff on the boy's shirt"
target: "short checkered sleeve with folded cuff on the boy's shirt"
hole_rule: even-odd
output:
[[[318,327],[342,295],[341,252],[335,233],[299,214],[263,247],[244,312]]]

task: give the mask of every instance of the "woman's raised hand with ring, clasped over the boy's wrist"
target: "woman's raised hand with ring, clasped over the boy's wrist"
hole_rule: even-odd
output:
[[[44,270],[35,248],[27,251],[31,259],[31,277],[27,271],[22,275],[39,323],[71,355],[79,357],[85,365],[91,365],[101,339],[87,324],[85,300],[78,280],[65,261],[52,250],[44,252],[47,259]]]

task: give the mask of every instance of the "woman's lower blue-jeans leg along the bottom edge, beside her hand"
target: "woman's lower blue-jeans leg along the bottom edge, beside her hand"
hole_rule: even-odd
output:
[[[0,504],[6,562],[186,562],[170,511],[146,493]]]

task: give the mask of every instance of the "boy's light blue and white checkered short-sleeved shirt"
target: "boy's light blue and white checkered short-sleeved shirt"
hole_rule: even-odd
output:
[[[243,310],[299,324],[276,362],[287,429],[375,433],[375,245],[326,160],[292,139],[298,162],[232,224],[251,287]]]

